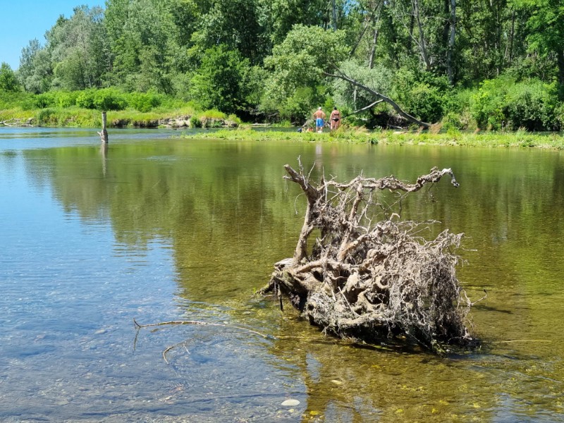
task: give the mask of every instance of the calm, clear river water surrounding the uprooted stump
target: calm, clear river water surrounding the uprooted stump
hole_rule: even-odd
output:
[[[564,421],[563,152],[173,135],[0,128],[0,421]],[[343,181],[453,169],[403,214],[465,233],[482,350],[337,341],[254,295],[295,247],[298,157]]]

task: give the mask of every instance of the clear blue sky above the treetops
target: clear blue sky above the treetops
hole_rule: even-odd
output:
[[[44,45],[45,32],[57,18],[70,18],[73,8],[81,4],[105,7],[104,0],[0,0],[0,63],[16,71],[30,39],[37,38]]]

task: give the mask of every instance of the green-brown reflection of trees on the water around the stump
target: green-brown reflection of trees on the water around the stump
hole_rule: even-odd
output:
[[[470,266],[462,269],[460,281],[491,293],[487,305],[493,310],[477,306],[479,331],[515,339],[559,327],[556,300],[543,296],[541,303],[538,295],[523,294],[552,292],[555,275],[564,273],[556,256],[562,241],[555,236],[564,230],[560,155],[323,145],[316,157],[315,147],[159,140],[112,144],[101,163],[96,142],[92,147],[24,150],[23,157],[35,188],[52,187],[66,212],[76,212],[86,223],[110,222],[118,245],[140,250],[152,240],[170,242],[181,297],[245,307],[252,289],[266,283],[271,264],[292,254],[302,224],[302,210],[294,214],[299,188],[283,183],[283,164],[301,154],[304,164],[317,160],[314,172],[324,169],[326,176],[340,180],[362,169],[366,176],[393,173],[409,180],[421,170],[447,164],[460,189],[441,190],[436,202],[423,192],[417,201],[405,202],[403,212],[407,218],[434,218],[453,232],[465,232],[467,247],[478,249],[465,252]],[[312,173],[313,179],[317,176]],[[503,301],[494,300],[500,295]],[[261,331],[276,327],[276,305],[245,307],[230,313]],[[501,309],[513,314],[500,319],[496,310]],[[453,362],[364,350],[323,338],[304,321],[286,317],[281,325],[281,335],[297,338],[274,341],[270,351],[292,363],[295,377],[305,381],[305,421],[320,416],[342,416],[341,421],[361,421],[363,416],[366,421],[371,413],[381,421],[491,420],[496,407],[504,410],[502,397],[537,404],[525,410],[529,416],[539,407],[559,412],[554,401],[547,405],[537,397],[548,389],[539,386],[542,377],[544,384],[556,380],[551,390],[557,398],[564,372],[557,365],[540,369],[537,363],[539,369],[530,376],[538,375],[534,388],[527,390],[522,386],[530,386],[531,379],[523,376],[520,360],[508,365],[510,358],[499,359],[502,364],[486,366],[486,358]],[[558,345],[555,341],[550,348],[558,350]],[[525,351],[534,350],[539,351],[538,345],[529,344]]]

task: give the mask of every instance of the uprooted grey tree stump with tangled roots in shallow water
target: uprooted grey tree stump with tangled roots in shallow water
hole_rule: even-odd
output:
[[[403,198],[445,175],[458,187],[450,168],[432,168],[415,183],[361,174],[348,183],[321,178],[315,187],[301,162],[299,171],[284,168],[307,198],[305,221],[294,257],[275,264],[262,294],[288,295],[311,324],[343,338],[409,338],[436,353],[475,343],[466,326],[472,302],[455,274],[463,234],[425,240],[422,223],[401,221],[379,201],[383,190]]]

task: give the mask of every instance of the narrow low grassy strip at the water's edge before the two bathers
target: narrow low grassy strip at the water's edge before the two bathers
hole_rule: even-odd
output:
[[[341,129],[336,133],[298,133],[276,130],[258,131],[250,128],[237,130],[219,130],[213,133],[183,135],[183,137],[214,138],[226,140],[288,140],[305,142],[350,142],[388,145],[443,145],[465,147],[537,147],[546,149],[564,149],[564,136],[558,133],[539,135],[517,132],[478,132],[462,133],[450,130],[446,133],[402,132],[383,130],[366,132],[362,130]]]

